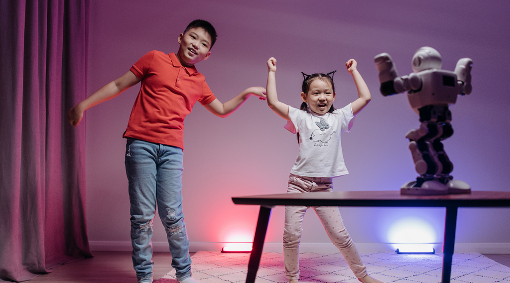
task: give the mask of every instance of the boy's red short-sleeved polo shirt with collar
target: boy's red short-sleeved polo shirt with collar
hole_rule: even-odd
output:
[[[123,137],[184,149],[184,118],[198,100],[210,104],[216,97],[195,66],[183,67],[174,53],[153,50],[130,69],[142,79]]]

